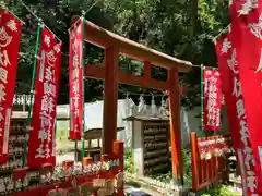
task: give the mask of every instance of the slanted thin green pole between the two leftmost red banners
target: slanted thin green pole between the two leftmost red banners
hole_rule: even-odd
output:
[[[29,96],[29,109],[28,109],[28,115],[27,115],[27,121],[26,121],[26,134],[29,135],[31,132],[31,113],[32,113],[32,105],[33,105],[33,98],[35,95],[35,76],[36,76],[36,65],[37,65],[37,60],[38,60],[38,50],[39,50],[39,41],[40,41],[40,32],[41,32],[41,24],[38,23],[37,27],[37,38],[36,38],[36,46],[35,46],[35,60],[34,60],[34,65],[33,65],[33,74],[32,74],[32,81],[31,81],[31,96]],[[26,154],[27,154],[27,147],[28,147],[28,137],[27,136],[24,140],[23,144],[23,167],[26,166]]]

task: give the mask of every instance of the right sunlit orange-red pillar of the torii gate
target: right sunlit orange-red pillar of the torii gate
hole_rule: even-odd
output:
[[[172,86],[169,90],[172,176],[174,182],[181,189],[183,185],[183,171],[180,131],[180,94],[179,76],[176,69],[168,70],[168,82]]]

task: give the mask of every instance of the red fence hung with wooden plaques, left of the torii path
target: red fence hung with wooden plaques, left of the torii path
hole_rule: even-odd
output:
[[[123,196],[123,143],[114,143],[114,158],[102,156],[100,163],[117,160],[119,164],[111,167],[110,170],[96,170],[88,174],[68,175],[64,181],[52,181],[47,185],[39,184],[37,187],[23,187],[23,191],[10,194],[12,196],[80,196],[100,194]],[[64,162],[66,173],[70,167],[70,162]],[[90,157],[83,158],[83,167],[93,167],[93,160]],[[96,164],[97,166],[97,164]],[[24,170],[23,170],[24,171]],[[40,171],[41,173],[41,171]],[[43,174],[41,174],[43,175]],[[20,174],[21,176],[21,174]],[[16,177],[17,179],[17,177]],[[21,177],[20,177],[21,180]]]

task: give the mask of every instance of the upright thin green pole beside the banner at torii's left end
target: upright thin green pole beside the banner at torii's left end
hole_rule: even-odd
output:
[[[84,12],[83,12],[84,13]],[[81,16],[81,21],[83,24],[83,138],[82,138],[82,159],[85,157],[85,17],[84,14]]]

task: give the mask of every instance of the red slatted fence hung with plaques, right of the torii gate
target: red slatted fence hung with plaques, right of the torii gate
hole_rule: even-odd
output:
[[[227,174],[226,155],[230,151],[229,135],[198,138],[191,133],[192,189],[199,191]]]

